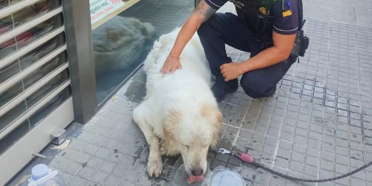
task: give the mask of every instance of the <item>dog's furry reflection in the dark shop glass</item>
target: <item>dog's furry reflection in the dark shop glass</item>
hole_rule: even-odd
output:
[[[154,32],[150,23],[122,16],[115,16],[93,30],[96,71],[127,69],[140,57],[145,42]]]

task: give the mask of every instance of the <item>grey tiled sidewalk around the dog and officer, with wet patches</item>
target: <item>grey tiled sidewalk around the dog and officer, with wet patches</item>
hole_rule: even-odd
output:
[[[303,0],[310,47],[300,63],[266,99],[241,87],[220,104],[224,125],[219,147],[248,152],[267,166],[304,178],[329,178],[372,160],[372,1]],[[232,11],[226,4],[220,12]],[[227,47],[234,61],[248,53]],[[62,172],[68,186],[166,186],[176,158],[164,158],[156,180],[145,172],[148,149],[132,109],[145,94],[138,72],[86,125],[68,128],[61,147],[48,147],[12,183],[22,183],[33,165]],[[372,186],[372,167],[328,183],[293,182],[229,155],[210,154],[212,169],[226,166],[247,186]]]

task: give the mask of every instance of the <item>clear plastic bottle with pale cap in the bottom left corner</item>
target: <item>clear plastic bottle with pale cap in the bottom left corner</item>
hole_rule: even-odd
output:
[[[32,176],[24,186],[65,186],[58,171],[53,171],[45,164],[35,165],[31,170]]]

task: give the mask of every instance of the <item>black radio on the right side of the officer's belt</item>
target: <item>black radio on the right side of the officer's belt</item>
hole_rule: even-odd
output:
[[[305,21],[306,20],[302,22],[302,25],[297,32],[296,38],[294,40],[294,45],[291,51],[292,58],[298,58],[298,56],[304,57],[306,49],[308,49],[309,47],[309,37],[304,35],[304,31],[302,30]],[[297,60],[299,62],[299,59]]]

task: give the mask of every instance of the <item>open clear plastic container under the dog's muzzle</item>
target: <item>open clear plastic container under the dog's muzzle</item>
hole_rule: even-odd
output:
[[[244,179],[236,172],[218,166],[213,171],[209,170],[204,173],[204,181],[196,183],[187,183],[188,174],[182,161],[179,158],[174,164],[174,169],[171,171],[172,186],[245,186]]]

